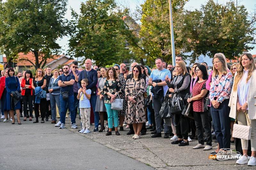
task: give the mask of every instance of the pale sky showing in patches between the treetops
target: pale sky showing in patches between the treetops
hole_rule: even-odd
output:
[[[229,0],[215,0],[217,1],[219,4],[225,4],[227,1]],[[71,19],[71,10],[70,8],[72,8],[73,10],[75,10],[77,13],[80,13],[80,4],[81,2],[86,2],[86,0],[68,0],[68,6],[67,6],[67,13],[65,15],[65,18],[67,19]],[[126,7],[128,7],[131,11],[131,13],[133,13],[136,10],[136,7],[139,6],[140,4],[143,4],[145,2],[145,0],[116,0],[116,3],[118,5],[124,5]],[[189,9],[191,11],[195,10],[195,9],[200,9],[201,4],[206,4],[207,1],[205,0],[189,0],[184,8],[185,9]],[[253,12],[254,9],[256,9],[256,0],[237,0],[239,5],[244,5],[248,12]],[[63,49],[63,53],[66,54],[66,51],[68,50],[68,37],[64,37],[61,40],[58,40],[57,43],[60,44],[60,46]],[[249,51],[249,53],[251,54],[256,54],[256,47]]]

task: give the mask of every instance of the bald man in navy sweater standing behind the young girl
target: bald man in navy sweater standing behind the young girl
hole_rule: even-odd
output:
[[[99,131],[99,119],[100,115],[99,112],[95,112],[95,107],[96,107],[96,90],[97,90],[97,83],[98,83],[98,74],[97,71],[92,69],[92,60],[91,59],[86,59],[84,62],[85,70],[81,71],[79,74],[77,86],[79,89],[82,89],[81,81],[86,78],[88,79],[88,85],[85,87],[85,89],[91,89],[92,94],[91,94],[91,99],[90,103],[92,104],[92,109],[94,113],[94,132]]]

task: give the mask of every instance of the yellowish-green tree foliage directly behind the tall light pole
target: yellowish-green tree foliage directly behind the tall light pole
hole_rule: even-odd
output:
[[[188,0],[172,0],[175,53],[179,54],[187,47],[186,32],[182,32],[184,5]],[[168,0],[147,0],[138,10],[141,22],[138,37],[140,42],[134,53],[137,61],[155,65],[155,59],[161,57],[165,62],[172,62],[170,17]],[[144,63],[143,59],[146,59]]]

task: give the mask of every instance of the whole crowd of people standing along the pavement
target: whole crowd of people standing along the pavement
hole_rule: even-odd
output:
[[[78,68],[74,61],[70,67],[64,65],[53,71],[51,67],[38,68],[36,75],[25,70],[17,77],[13,68],[2,70],[3,122],[9,118],[15,124],[14,111],[19,125],[23,115],[23,121],[27,118],[32,121],[34,110],[33,123],[38,123],[40,117],[44,123],[51,116],[51,123],[63,129],[69,111],[71,128],[78,129],[78,111],[80,133],[90,133],[94,120],[93,132],[103,132],[106,126],[106,136],[112,135],[113,130],[120,135],[119,125],[119,131],[123,131],[124,126],[130,128],[127,135],[133,135],[133,139],[140,139],[147,130],[152,138],[162,137],[164,131],[164,138],[171,136],[171,144],[187,146],[192,139],[197,139],[198,144],[192,148],[205,151],[212,149],[215,138],[218,148],[211,154],[230,148],[230,143],[236,142],[236,151],[243,154],[236,163],[255,166],[256,68],[252,55],[244,53],[238,63],[229,65],[225,55],[217,53],[210,69],[207,63],[187,67],[182,55],[175,57],[175,66],[162,58],[157,58],[155,63],[156,67],[151,69],[134,62],[128,71],[124,63],[98,68],[92,67],[91,59],[86,59],[85,69]],[[118,110],[112,108],[117,98],[123,100],[123,107]],[[170,118],[161,115],[165,101],[170,103]],[[193,119],[182,113],[188,104],[192,106]],[[240,125],[251,126],[251,140],[232,137],[235,119]]]

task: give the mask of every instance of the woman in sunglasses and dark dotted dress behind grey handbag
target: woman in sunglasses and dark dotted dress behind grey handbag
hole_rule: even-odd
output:
[[[113,67],[116,70],[116,76],[120,80],[120,84],[121,84],[122,94],[120,95],[120,97],[121,97],[121,99],[124,99],[123,110],[118,111],[118,116],[120,119],[120,129],[119,130],[124,131],[123,123],[124,123],[124,116],[125,116],[125,110],[126,110],[126,104],[127,104],[127,101],[125,100],[125,94],[124,94],[126,80],[125,80],[124,76],[119,74],[120,66],[118,64],[115,64]]]

